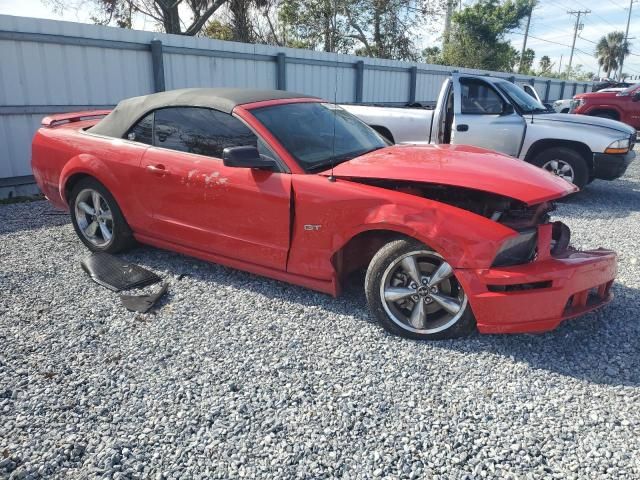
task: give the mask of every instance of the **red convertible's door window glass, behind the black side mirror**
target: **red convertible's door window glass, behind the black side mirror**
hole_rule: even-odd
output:
[[[171,107],[155,112],[156,147],[222,158],[226,147],[256,146],[257,141],[240,120],[209,108]]]

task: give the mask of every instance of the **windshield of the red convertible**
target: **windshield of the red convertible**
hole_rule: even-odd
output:
[[[375,130],[342,108],[319,102],[251,110],[307,172],[386,147]]]

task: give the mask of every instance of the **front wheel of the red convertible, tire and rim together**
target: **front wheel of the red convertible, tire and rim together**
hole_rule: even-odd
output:
[[[469,334],[476,321],[451,266],[411,239],[375,254],[365,278],[369,311],[389,332],[418,340]]]

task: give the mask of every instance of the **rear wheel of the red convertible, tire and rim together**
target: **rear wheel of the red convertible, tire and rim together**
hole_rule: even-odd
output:
[[[116,253],[135,244],[116,200],[97,180],[80,180],[69,195],[69,208],[73,228],[89,250]]]

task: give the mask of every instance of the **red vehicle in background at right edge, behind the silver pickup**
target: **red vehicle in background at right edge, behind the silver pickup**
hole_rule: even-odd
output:
[[[640,128],[640,83],[621,92],[580,93],[571,101],[570,113],[610,118]]]

